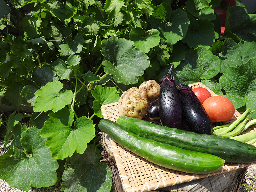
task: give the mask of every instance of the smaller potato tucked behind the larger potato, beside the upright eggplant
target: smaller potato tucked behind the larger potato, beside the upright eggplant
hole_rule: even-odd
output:
[[[155,80],[144,81],[140,84],[139,89],[143,89],[147,92],[149,102],[159,97],[160,85]]]

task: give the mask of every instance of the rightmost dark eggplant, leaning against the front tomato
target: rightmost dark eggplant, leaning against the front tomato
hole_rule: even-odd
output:
[[[180,84],[177,88],[180,93],[183,121],[188,129],[200,134],[212,134],[210,118],[191,87]]]

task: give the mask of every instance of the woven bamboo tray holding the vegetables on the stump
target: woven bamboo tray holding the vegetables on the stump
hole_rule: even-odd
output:
[[[191,86],[192,88],[204,87],[210,91],[212,96],[217,96],[204,84],[195,83],[190,84],[189,86]],[[117,118],[119,117],[118,102],[102,105],[101,112],[103,114],[103,118],[116,122]],[[226,124],[234,122],[240,115],[241,114],[238,111],[235,111],[233,119],[226,122]],[[143,120],[160,125],[159,120],[151,120],[148,117],[144,117]],[[256,126],[252,125],[246,132],[251,131],[256,131]],[[111,140],[111,138],[109,140],[113,150],[113,155],[115,156],[118,173],[121,178],[122,186],[125,192],[144,192],[156,190],[158,188],[164,188],[184,182],[189,182],[192,180],[209,177],[223,172],[230,172],[232,170],[248,167],[256,163],[225,163],[222,168],[217,172],[209,174],[190,174],[186,172],[166,169],[164,167],[153,164],[145,160],[144,158],[128,151],[127,149],[122,148],[114,140]],[[254,143],[253,145],[256,146],[256,143]]]

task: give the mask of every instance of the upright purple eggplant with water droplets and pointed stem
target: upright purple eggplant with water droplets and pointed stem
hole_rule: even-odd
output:
[[[171,66],[169,72],[160,81],[158,98],[159,118],[162,126],[182,128],[182,107],[178,89],[174,83]]]

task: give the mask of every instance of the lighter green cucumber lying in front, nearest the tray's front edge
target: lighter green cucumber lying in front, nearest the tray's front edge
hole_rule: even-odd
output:
[[[142,138],[124,126],[108,119],[101,119],[101,131],[119,145],[159,166],[177,171],[206,174],[218,171],[225,161],[220,157],[170,146]]]

